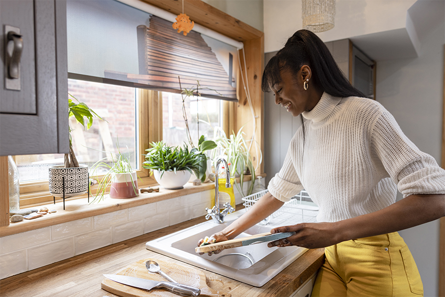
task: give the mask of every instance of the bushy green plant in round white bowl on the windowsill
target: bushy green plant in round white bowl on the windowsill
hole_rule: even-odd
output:
[[[201,153],[188,150],[187,145],[168,146],[163,141],[151,142],[146,149],[142,167],[151,169],[150,174],[166,189],[178,189],[190,178],[193,172],[199,176]]]

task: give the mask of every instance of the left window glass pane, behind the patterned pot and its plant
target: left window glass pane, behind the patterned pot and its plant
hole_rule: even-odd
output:
[[[69,118],[72,146],[79,163],[91,167],[96,161],[109,157],[107,152],[117,152],[117,141],[122,153],[129,154],[131,166],[138,169],[138,144],[136,143],[137,89],[126,86],[68,79],[68,92],[84,102],[103,119],[93,118],[86,130]],[[73,99],[74,102],[75,99]],[[20,181],[47,179],[48,168],[63,164],[63,154],[17,155]],[[110,160],[104,160],[110,163]],[[101,169],[98,172],[104,172]]]

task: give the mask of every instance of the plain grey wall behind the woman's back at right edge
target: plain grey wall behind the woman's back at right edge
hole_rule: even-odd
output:
[[[394,115],[409,139],[431,154],[438,164],[442,133],[444,43],[445,23],[441,23],[422,36],[417,58],[377,61],[376,75],[377,101]],[[399,233],[417,263],[425,296],[437,296],[439,221]]]

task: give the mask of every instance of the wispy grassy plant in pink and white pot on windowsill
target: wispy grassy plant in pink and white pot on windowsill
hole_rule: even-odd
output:
[[[137,175],[136,171],[131,168],[129,152],[128,156],[124,155],[120,151],[118,141],[116,146],[117,152],[105,152],[111,155],[111,163],[107,163],[108,157],[104,157],[91,166],[91,175],[94,175],[94,172],[100,167],[107,169],[97,185],[97,192],[91,203],[103,200],[108,187],[110,198],[125,199],[139,195]]]

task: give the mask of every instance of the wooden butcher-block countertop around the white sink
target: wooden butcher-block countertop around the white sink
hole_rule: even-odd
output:
[[[147,250],[145,248],[145,242],[187,228],[204,220],[204,217],[194,218],[69,259],[1,279],[0,295],[3,297],[37,295],[38,297],[116,296],[101,289],[100,282],[104,278],[102,274],[114,273],[128,264],[146,257],[191,266],[154,251]],[[318,248],[306,251],[301,257],[296,259],[262,287],[254,287],[204,269],[201,269],[201,271],[203,271],[207,277],[207,285],[209,287],[231,293],[233,297],[289,296],[321,266],[324,258],[323,250],[323,248]]]

